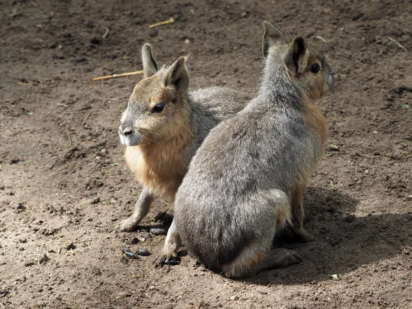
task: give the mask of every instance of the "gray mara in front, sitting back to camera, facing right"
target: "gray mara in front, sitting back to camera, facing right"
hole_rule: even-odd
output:
[[[183,243],[211,270],[241,277],[299,261],[295,251],[272,247],[285,225],[311,238],[303,194],[328,135],[315,101],[332,87],[334,72],[300,36],[286,43],[271,23],[263,26],[258,97],[211,130],[193,157],[163,260]]]

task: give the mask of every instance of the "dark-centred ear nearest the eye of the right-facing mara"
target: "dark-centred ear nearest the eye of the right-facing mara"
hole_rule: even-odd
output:
[[[301,36],[296,36],[285,55],[285,65],[288,73],[292,76],[299,76],[304,72],[308,64],[305,41]]]

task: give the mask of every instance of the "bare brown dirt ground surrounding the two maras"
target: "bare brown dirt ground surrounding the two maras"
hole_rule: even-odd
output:
[[[411,1],[3,0],[0,16],[1,309],[412,308]],[[190,54],[192,89],[254,95],[260,16],[304,36],[337,76],[305,196],[315,240],[279,238],[303,261],[247,279],[188,255],[155,268],[165,236],[148,230],[165,201],[117,231],[141,190],[117,136],[140,77],[91,78],[141,69],[150,41],[159,64]]]

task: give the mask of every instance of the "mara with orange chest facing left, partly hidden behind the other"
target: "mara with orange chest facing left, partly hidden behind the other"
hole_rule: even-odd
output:
[[[150,45],[142,49],[144,78],[130,95],[119,126],[130,170],[143,186],[133,215],[121,231],[133,231],[155,195],[174,201],[190,159],[211,128],[242,110],[247,95],[224,87],[188,91],[185,57],[157,69]]]

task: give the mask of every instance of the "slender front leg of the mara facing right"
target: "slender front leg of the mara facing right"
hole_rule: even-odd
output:
[[[313,236],[304,229],[304,192],[306,190],[306,181],[301,181],[293,190],[290,196],[290,205],[292,207],[292,231],[303,242],[310,242]]]

